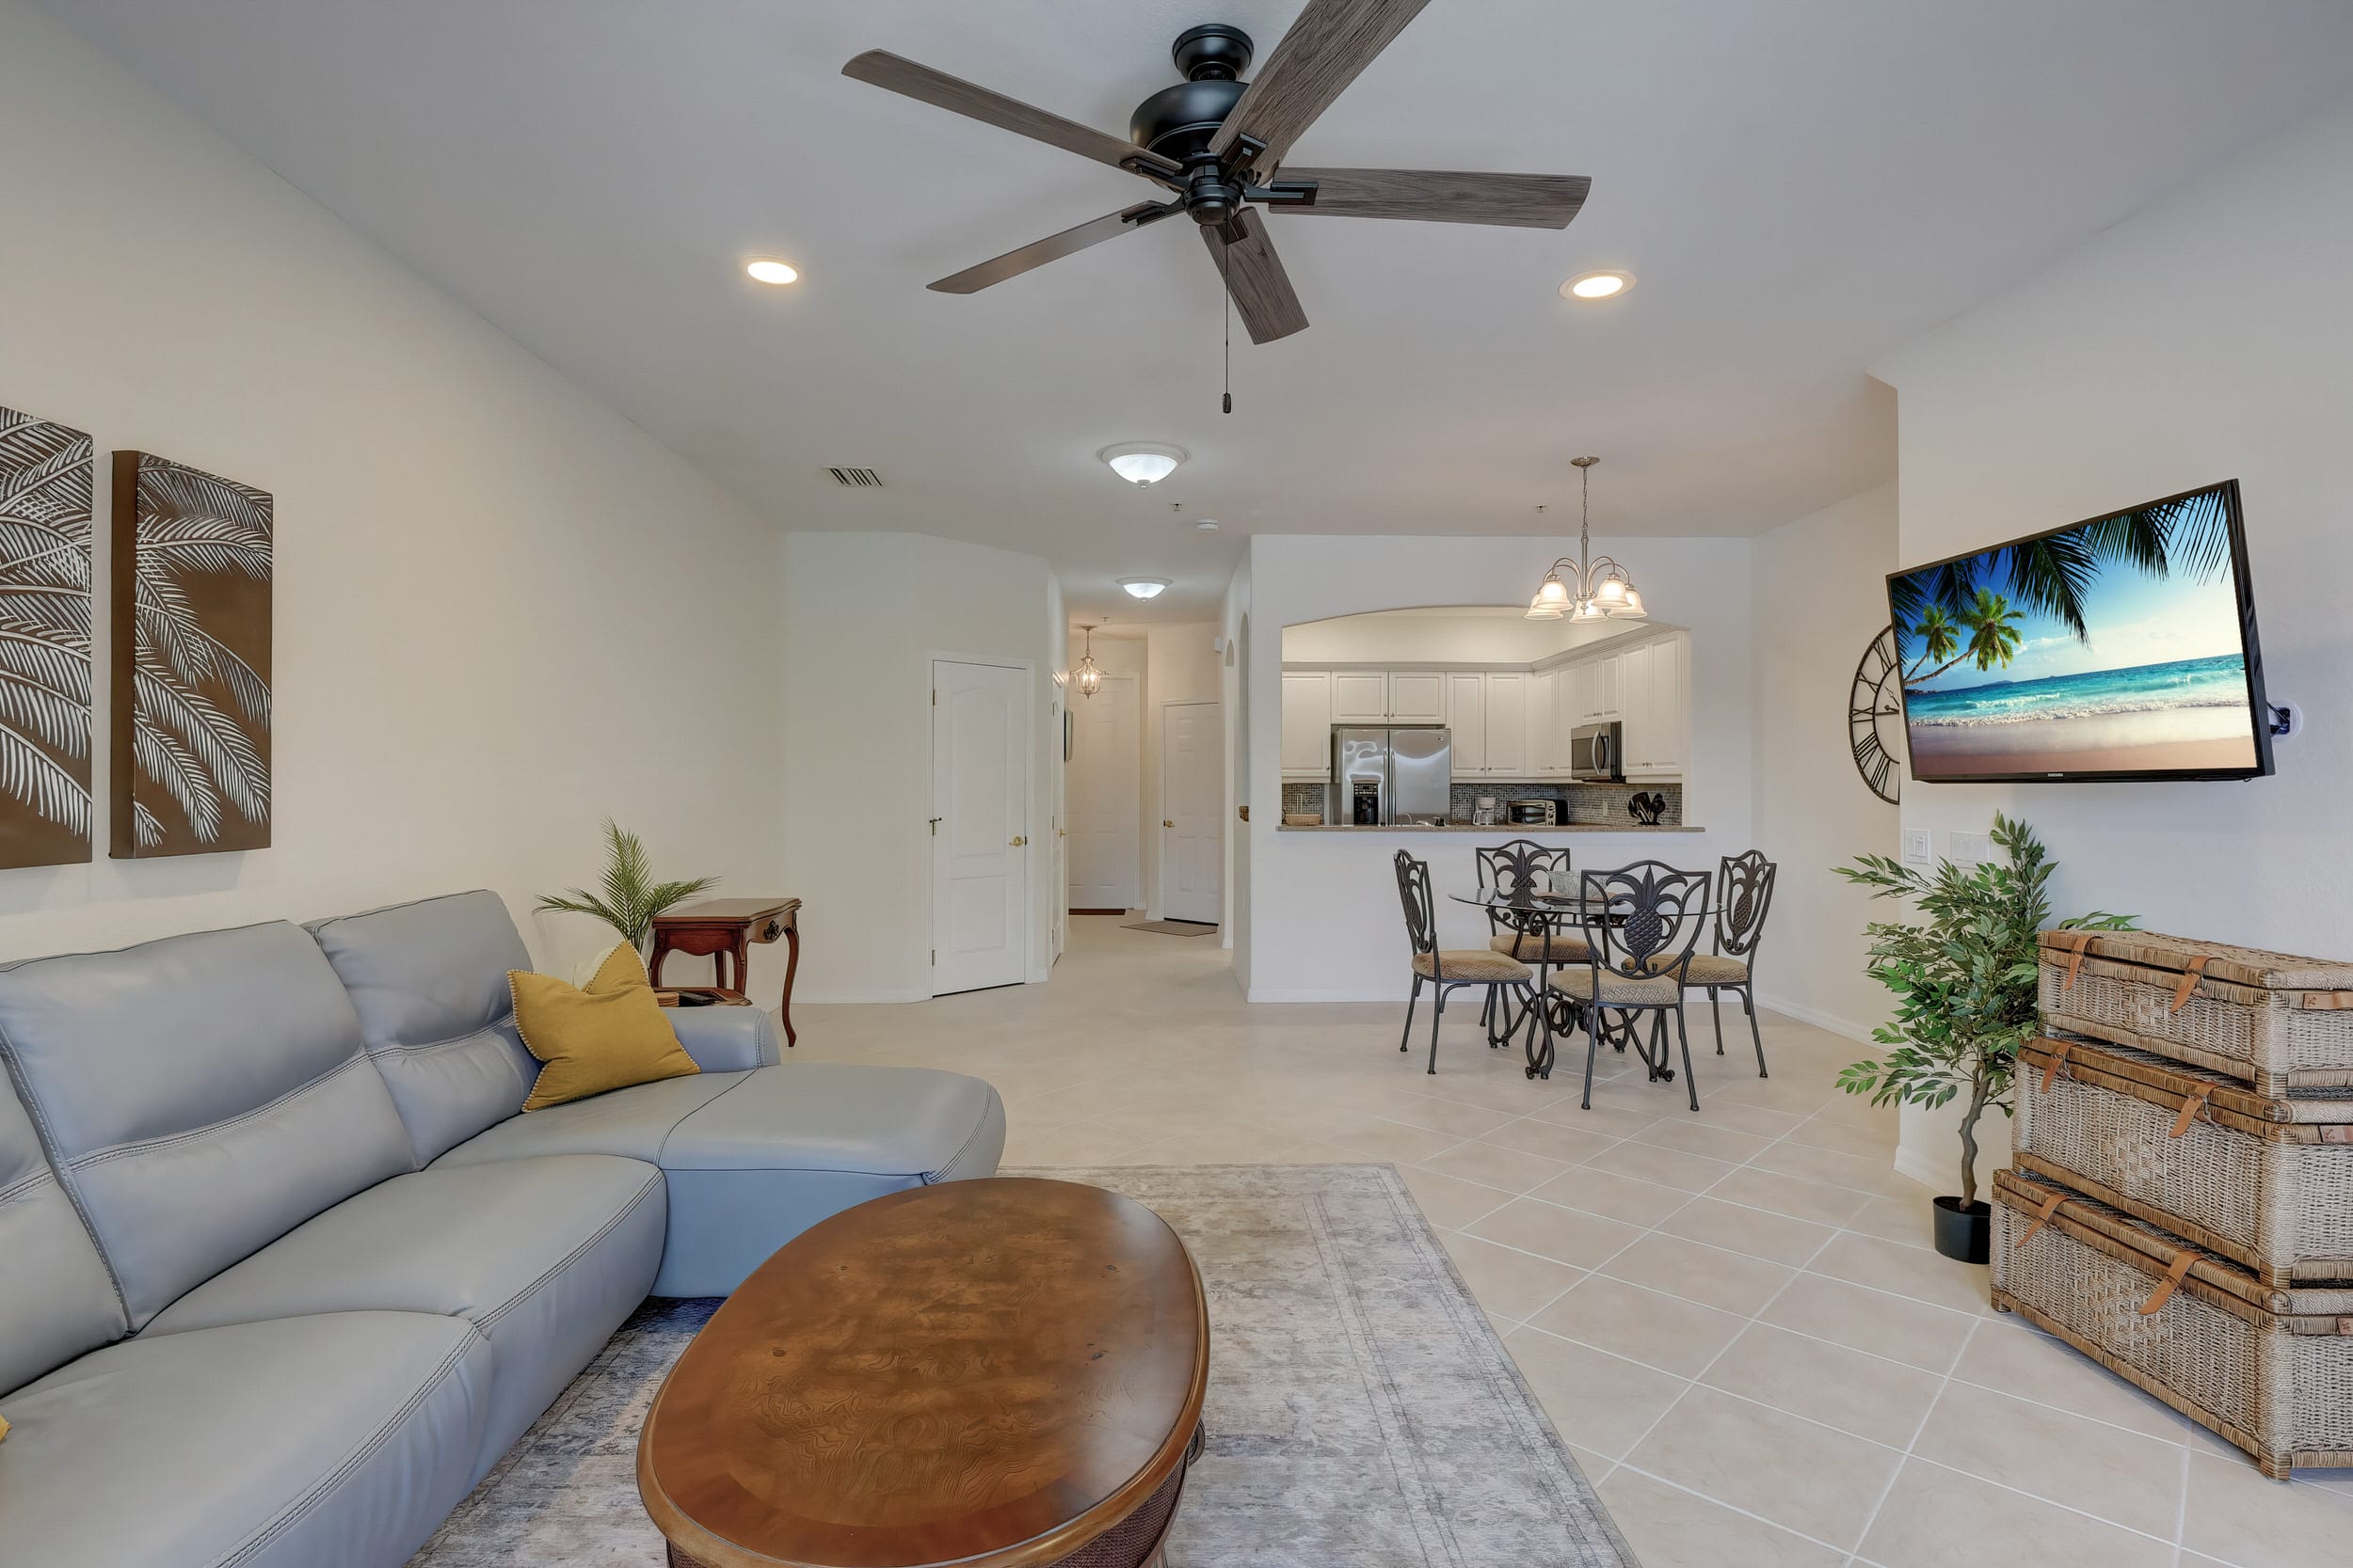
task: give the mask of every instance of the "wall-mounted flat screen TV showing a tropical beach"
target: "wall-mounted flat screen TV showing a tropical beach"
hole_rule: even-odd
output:
[[[2238,480],[1887,578],[1922,783],[2257,778]]]

